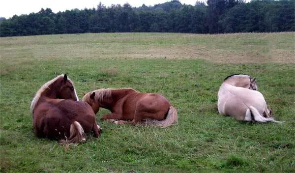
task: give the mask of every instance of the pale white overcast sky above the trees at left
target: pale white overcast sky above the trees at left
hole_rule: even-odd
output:
[[[154,5],[164,3],[171,0],[1,0],[0,2],[0,17],[6,19],[13,15],[29,14],[31,12],[37,13],[41,8],[51,8],[55,13],[59,11],[71,10],[74,8],[96,8],[101,1],[105,6],[111,4],[121,4],[128,2],[132,7],[139,7],[142,4]],[[182,4],[195,5],[197,0],[179,0]],[[207,1],[207,0],[199,0]]]

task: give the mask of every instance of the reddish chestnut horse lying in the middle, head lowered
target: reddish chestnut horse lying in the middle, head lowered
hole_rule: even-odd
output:
[[[99,108],[112,112],[102,117],[116,124],[155,124],[162,128],[177,123],[177,111],[162,95],[141,93],[132,88],[97,89],[84,95],[83,101],[89,103],[94,113]],[[126,121],[129,120],[129,121]]]

